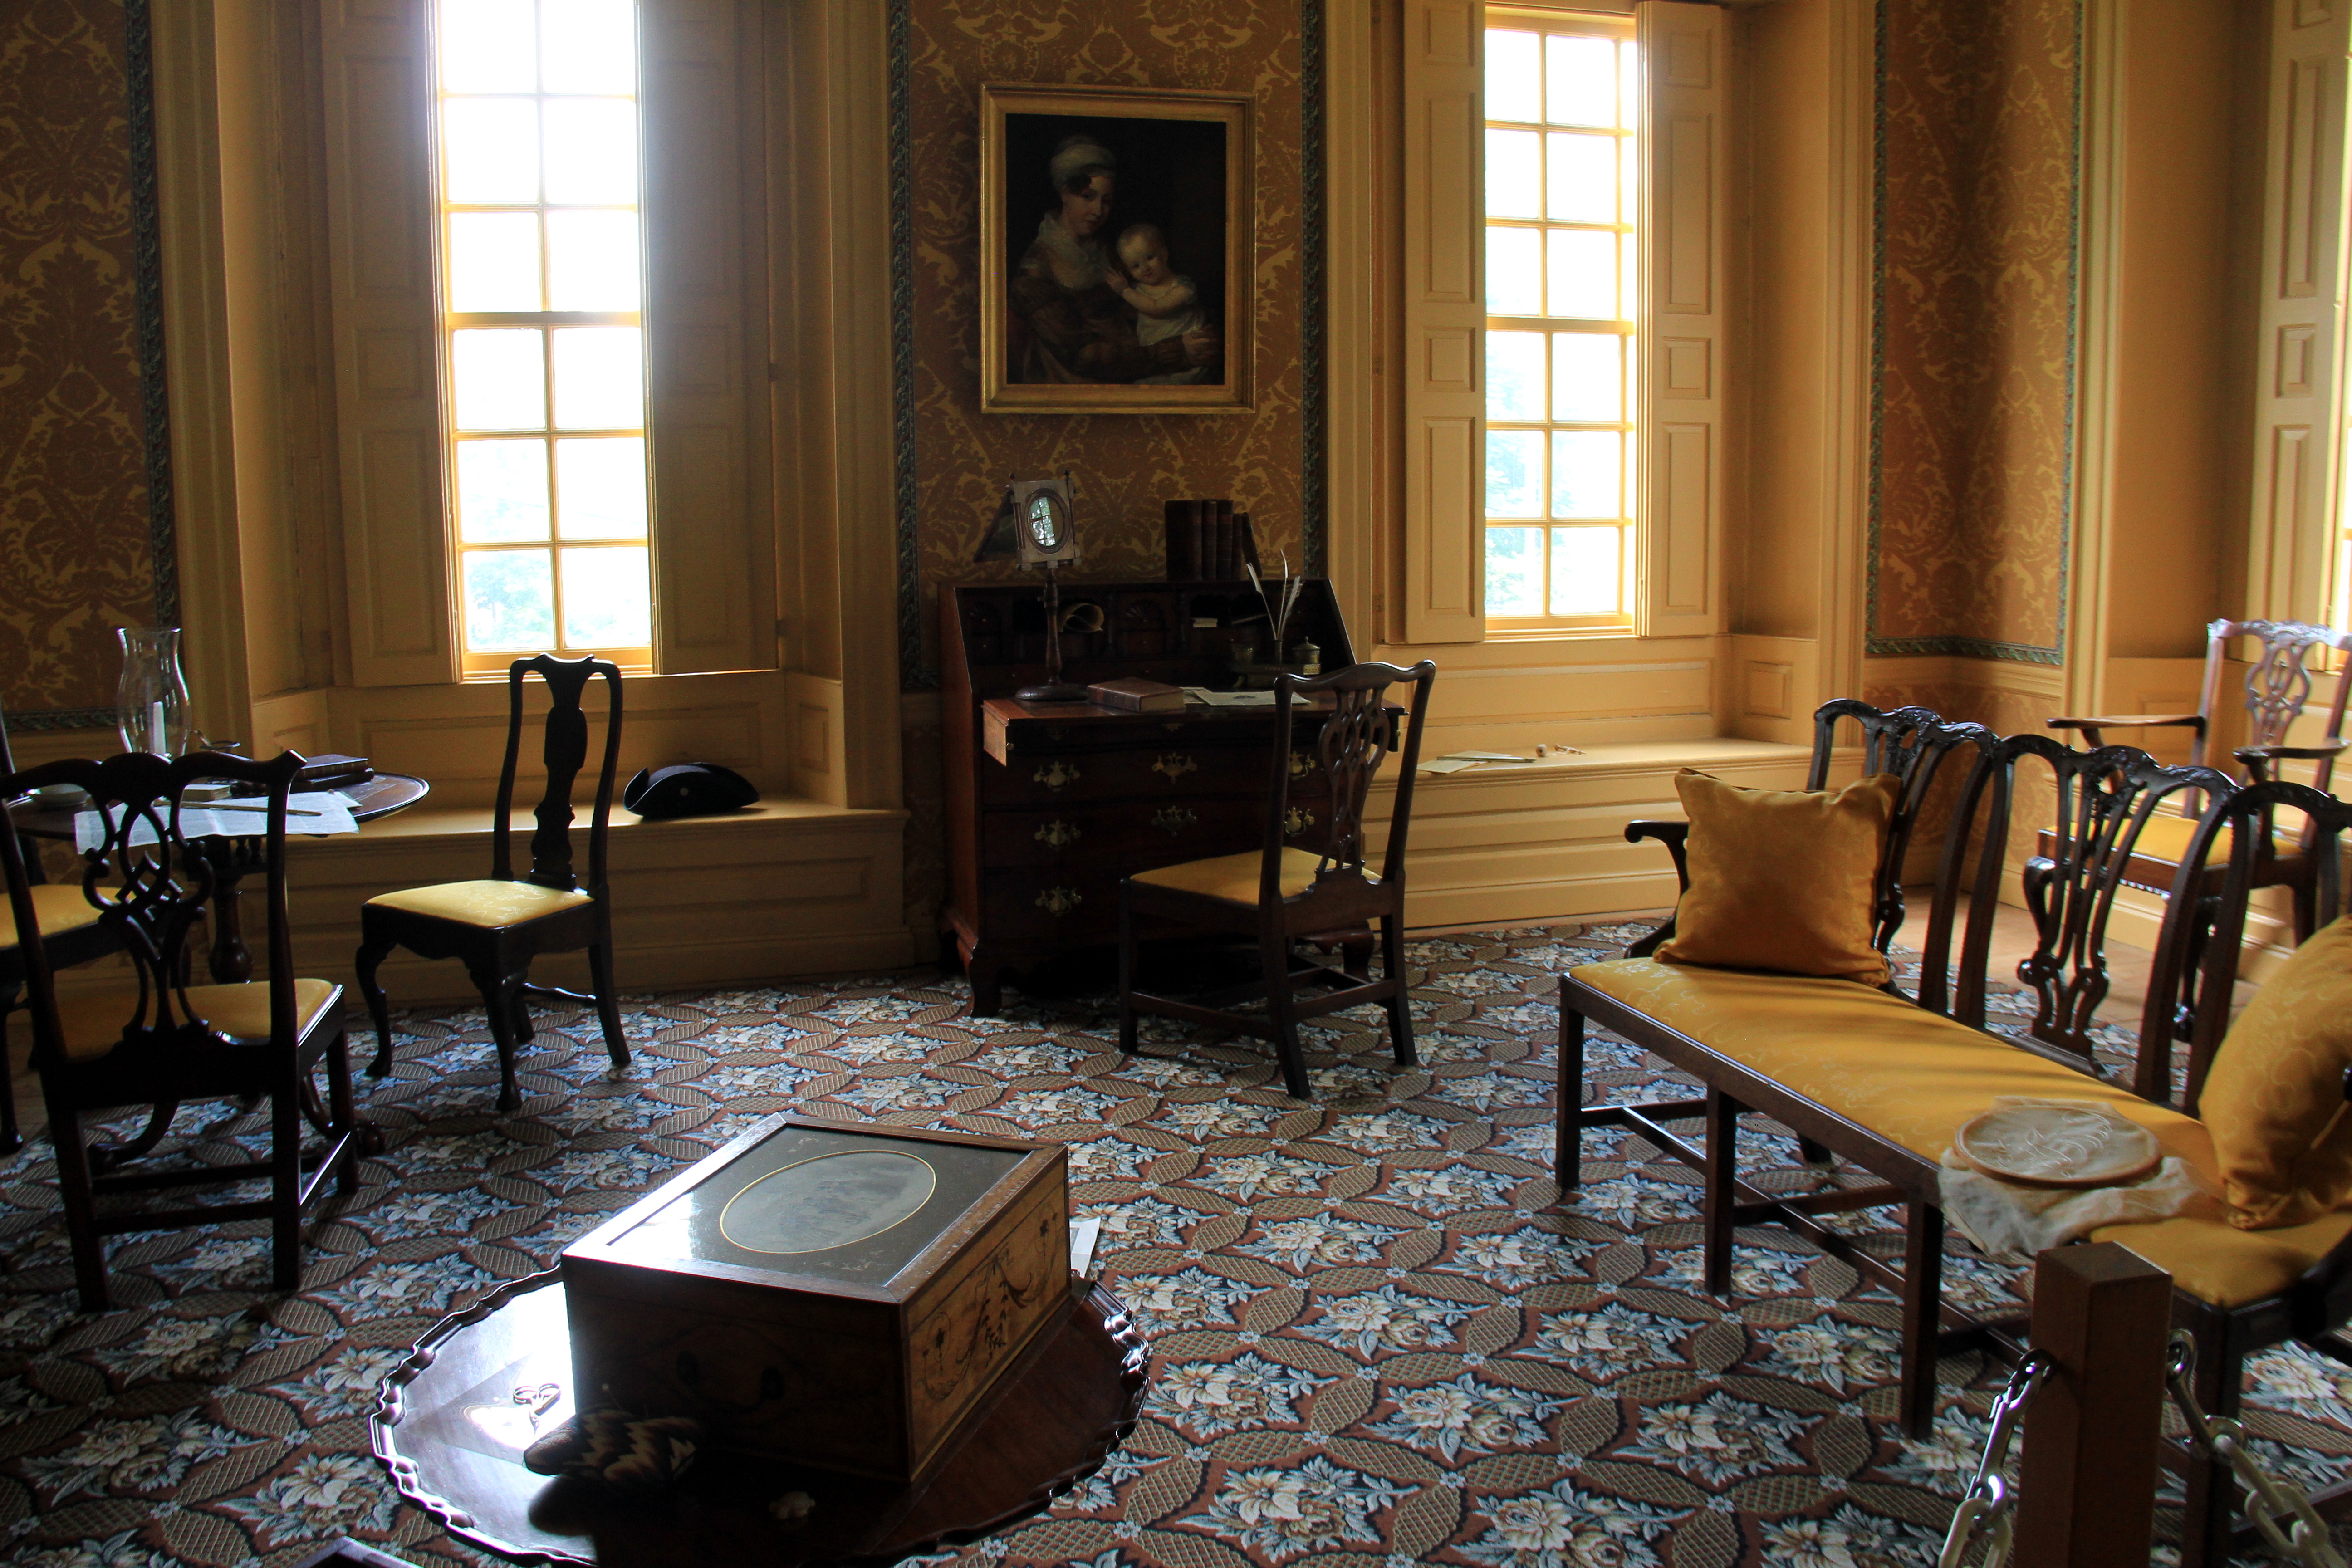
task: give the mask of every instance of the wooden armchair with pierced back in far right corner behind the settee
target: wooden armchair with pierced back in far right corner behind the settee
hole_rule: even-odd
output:
[[[2049,729],[2082,731],[2084,743],[2091,748],[2105,745],[2105,731],[2110,729],[2187,729],[2192,731],[2190,762],[2209,764],[2213,759],[2206,752],[2213,745],[2230,644],[2239,637],[2253,637],[2260,649],[2246,668],[2244,682],[2249,743],[2234,748],[2230,755],[2246,764],[2246,778],[2253,783],[2277,776],[2281,762],[2310,762],[2314,764],[2312,788],[2326,792],[2336,776],[2336,755],[2345,750],[2345,698],[2352,696],[2352,679],[2336,682],[2336,698],[2328,703],[2326,738],[2319,745],[2286,745],[2288,726],[2303,717],[2303,708],[2312,698],[2312,656],[2321,649],[2352,654],[2352,632],[2338,632],[2326,625],[2305,625],[2300,621],[2216,621],[2206,628],[2206,670],[2197,712],[2056,717],[2046,719],[2046,724]],[[2185,813],[2166,813],[2147,825],[2133,851],[2133,865],[2124,875],[2129,886],[2150,893],[2164,893],[2173,886],[2173,872],[2180,867],[2180,856],[2197,832],[2201,806],[2204,802],[2190,799]],[[2270,835],[2263,842],[2265,851],[2256,860],[2253,886],[2293,889],[2296,940],[2300,943],[2314,931],[2310,849],[2296,842],[2277,842]],[[2051,856],[2049,835],[2044,835],[2042,856]],[[2227,846],[2218,849],[2216,856],[2206,867],[2204,893],[2213,893],[2220,886]]]

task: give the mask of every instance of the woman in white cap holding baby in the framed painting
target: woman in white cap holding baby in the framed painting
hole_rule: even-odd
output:
[[[1047,176],[1056,205],[1037,221],[1007,289],[1014,317],[1007,381],[1131,383],[1185,371],[1221,381],[1225,343],[1216,322],[1152,343],[1138,336],[1136,306],[1124,299],[1134,280],[1110,249],[1120,233],[1110,221],[1117,155],[1094,136],[1063,136]]]

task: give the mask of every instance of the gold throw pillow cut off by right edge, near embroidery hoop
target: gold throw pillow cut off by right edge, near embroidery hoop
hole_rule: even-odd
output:
[[[2303,1225],[2352,1197],[2352,914],[2296,947],[2213,1053],[2197,1114],[2230,1222]]]

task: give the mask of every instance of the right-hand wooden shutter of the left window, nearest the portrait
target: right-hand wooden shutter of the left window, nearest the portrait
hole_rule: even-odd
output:
[[[776,665],[760,7],[644,0],[644,341],[654,668]]]

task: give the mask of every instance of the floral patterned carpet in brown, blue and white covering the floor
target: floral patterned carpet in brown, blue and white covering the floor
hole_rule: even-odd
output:
[[[1105,1281],[1152,1340],[1134,1439],[985,1563],[1120,1568],[1933,1563],[1985,1439],[1994,1368],[1943,1366],[1924,1443],[1893,1413],[1893,1300],[1785,1232],[1743,1232],[1733,1302],[1698,1288],[1693,1175],[1588,1140],[1555,1208],[1555,976],[1630,929],[1414,945],[1423,1065],[1376,1009],[1310,1030],[1315,1105],[1249,1041],[1145,1025],[1115,1051],[1087,978],[971,1018],[922,973],[640,997],[637,1065],[555,1013],[524,1105],[492,1114],[477,1013],[400,1018],[365,1086],[388,1150],[313,1227],[303,1288],[266,1286],[259,1222],[115,1241],[125,1302],[80,1316],[45,1143],[0,1164],[0,1542],[40,1568],[263,1563],[336,1535],[412,1563],[494,1561],[405,1505],[367,1453],[383,1373],[440,1314],[548,1267],[600,1215],[800,1110],[1070,1145]],[[1653,1060],[1602,1039],[1602,1093]],[[198,1159],[259,1117],[181,1112]],[[1762,1140],[1757,1140],[1762,1143]],[[1797,1173],[1790,1173],[1795,1180]],[[1893,1239],[1889,1237],[1889,1244]],[[1952,1288],[2013,1274],[1955,1244]],[[2352,1378],[2256,1363],[2274,1462],[2352,1455]],[[943,1556],[936,1561],[955,1561]]]

